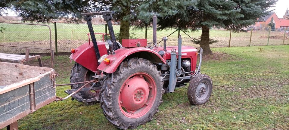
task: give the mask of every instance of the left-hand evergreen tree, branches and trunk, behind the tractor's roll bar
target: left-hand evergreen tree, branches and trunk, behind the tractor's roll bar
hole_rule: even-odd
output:
[[[114,21],[120,21],[120,39],[129,38],[129,26],[137,24],[135,11],[144,0],[2,0],[0,16],[6,9],[15,11],[23,21],[49,22],[65,18],[78,23],[85,12],[116,11]],[[72,16],[72,17],[70,17]],[[70,17],[70,18],[69,18]]]

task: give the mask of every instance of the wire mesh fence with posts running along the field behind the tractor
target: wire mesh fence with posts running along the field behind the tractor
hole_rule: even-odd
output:
[[[55,50],[55,28],[54,23],[48,24],[52,32],[52,49]],[[0,53],[24,53],[25,48],[7,47],[1,45],[12,46],[28,46],[36,48],[49,48],[49,29],[45,26],[36,25],[20,25],[0,23],[2,31],[0,32]],[[105,24],[93,25],[94,32],[105,33]],[[120,25],[113,25],[113,29],[116,35],[119,35]],[[70,52],[71,48],[77,48],[80,45],[88,42],[89,33],[87,24],[66,24],[57,23],[57,51],[58,52]],[[275,29],[270,31],[269,29],[263,30],[248,30],[248,32],[230,32],[223,29],[211,29],[210,38],[218,40],[217,43],[210,45],[211,47],[228,47],[229,44],[233,46],[255,46],[255,45],[285,45],[289,44],[288,31],[285,29]],[[107,32],[108,33],[108,32]],[[152,27],[146,29],[134,29],[130,27],[130,38],[147,38],[148,42],[152,42]],[[231,37],[230,37],[231,33]],[[147,34],[147,37],[145,37]],[[163,36],[168,36],[167,45],[177,45],[178,34],[183,38],[183,45],[190,45],[193,47],[199,47],[195,45],[192,38],[200,38],[201,30],[191,31],[187,30],[183,32],[178,29],[165,29],[157,31],[157,42],[160,42]],[[269,36],[269,37],[268,37]],[[231,38],[231,40],[230,40]],[[102,41],[102,35],[96,35],[98,41]],[[251,42],[250,42],[251,39]],[[230,42],[230,43],[229,43]],[[162,42],[158,46],[162,46]],[[31,49],[30,53],[43,53],[48,50]]]

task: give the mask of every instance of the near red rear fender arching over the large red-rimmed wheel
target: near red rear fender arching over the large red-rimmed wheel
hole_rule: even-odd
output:
[[[148,48],[136,47],[136,48],[120,48],[115,51],[115,54],[110,54],[106,58],[110,59],[110,64],[106,65],[101,62],[98,66],[98,70],[106,73],[113,73],[117,70],[120,63],[128,58],[139,57],[150,60],[152,63],[165,63],[166,61],[156,51]]]

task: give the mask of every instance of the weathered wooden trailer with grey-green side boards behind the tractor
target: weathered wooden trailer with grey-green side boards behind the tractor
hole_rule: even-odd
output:
[[[0,129],[56,100],[55,70],[0,62]]]

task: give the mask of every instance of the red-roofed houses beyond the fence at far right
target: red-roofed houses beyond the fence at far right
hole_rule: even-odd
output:
[[[258,19],[258,22],[255,23],[256,27],[261,27],[261,26],[267,26],[268,23],[270,23],[271,19],[273,18],[273,23],[275,23],[275,28],[285,28],[289,29],[289,11],[288,8],[283,16],[283,18],[278,18],[277,15],[273,12],[270,13],[269,15],[266,15],[264,17],[261,17]]]

